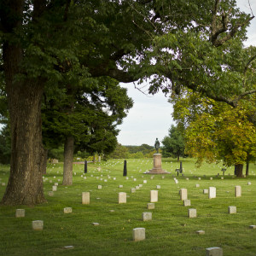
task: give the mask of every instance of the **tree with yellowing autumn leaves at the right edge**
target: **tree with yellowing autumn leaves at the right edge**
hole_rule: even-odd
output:
[[[256,152],[254,101],[232,108],[187,91],[173,102],[174,117],[185,127],[186,153],[197,158],[198,166],[203,160],[235,165],[236,175],[241,177],[242,165]]]

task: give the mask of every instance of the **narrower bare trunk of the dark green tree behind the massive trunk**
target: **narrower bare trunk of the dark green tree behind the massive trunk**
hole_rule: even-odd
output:
[[[73,183],[73,137],[66,137],[64,144],[64,170],[63,185],[72,185]]]

